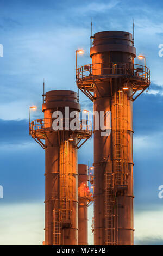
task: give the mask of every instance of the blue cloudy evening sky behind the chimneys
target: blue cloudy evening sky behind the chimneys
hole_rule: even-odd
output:
[[[163,199],[158,198],[162,175],[162,1],[3,1],[0,14],[0,243],[41,244],[44,219],[44,151],[28,135],[32,119],[41,113],[42,84],[47,90],[76,90],[75,50],[83,48],[78,65],[89,57],[93,32],[132,32],[135,47],[151,69],[151,88],[134,102],[134,227],[135,244],[162,244]],[[135,63],[142,61],[135,58]],[[92,103],[80,94],[82,108]],[[79,163],[93,162],[93,141],[79,150]],[[91,206],[90,206],[91,207]],[[90,219],[92,208],[89,210]],[[90,243],[92,235],[89,233]]]

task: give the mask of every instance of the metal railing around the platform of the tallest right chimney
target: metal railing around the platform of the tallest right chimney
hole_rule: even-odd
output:
[[[95,63],[77,69],[76,81],[91,76],[129,75],[150,82],[150,70],[146,66],[133,63]]]

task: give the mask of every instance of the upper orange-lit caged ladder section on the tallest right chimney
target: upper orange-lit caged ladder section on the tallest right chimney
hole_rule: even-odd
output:
[[[115,92],[112,105],[113,172],[115,186],[127,186],[127,92]]]

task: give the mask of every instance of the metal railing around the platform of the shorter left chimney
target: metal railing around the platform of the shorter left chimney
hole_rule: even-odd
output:
[[[54,130],[53,129],[53,121],[55,118],[42,118],[42,119],[36,119],[30,123],[29,131],[30,133],[33,133],[35,131],[45,131],[45,130]],[[62,118],[62,127],[65,130],[65,124],[70,124],[71,120],[73,118]],[[89,120],[85,119],[78,119],[78,122],[75,124],[76,129],[74,131],[86,131],[86,132],[92,132],[92,123]],[[60,129],[59,129],[60,130]],[[71,129],[70,129],[71,130]],[[73,131],[73,130],[72,130]]]

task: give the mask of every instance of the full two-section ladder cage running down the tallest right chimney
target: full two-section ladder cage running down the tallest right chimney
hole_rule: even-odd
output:
[[[112,172],[105,173],[105,245],[118,244],[117,191],[128,186],[127,92],[118,88],[112,97]]]

